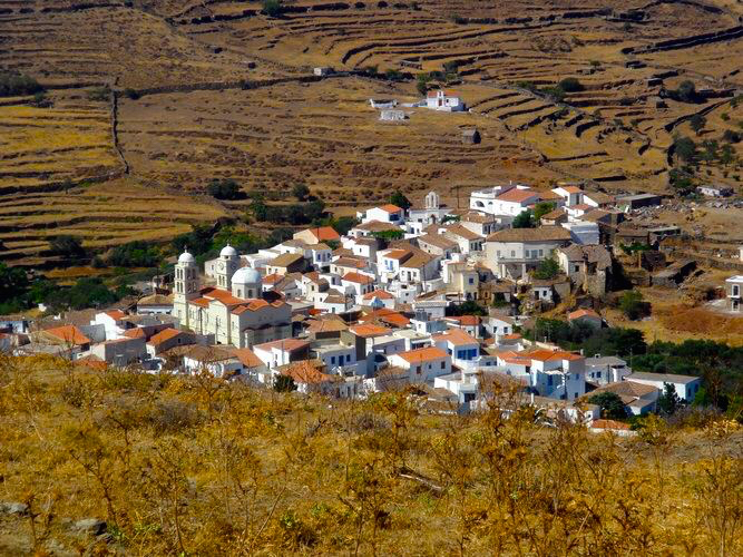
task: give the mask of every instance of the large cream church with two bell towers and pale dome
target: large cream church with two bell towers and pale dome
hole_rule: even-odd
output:
[[[219,252],[216,286],[201,286],[198,264],[184,251],[175,266],[173,311],[180,325],[213,334],[216,344],[252,348],[292,336],[292,309],[283,300],[263,299],[263,278],[255,268],[241,267],[231,245]]]

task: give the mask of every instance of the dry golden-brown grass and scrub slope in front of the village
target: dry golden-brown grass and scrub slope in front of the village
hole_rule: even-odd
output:
[[[502,404],[510,403],[500,393]],[[0,553],[740,555],[741,433],[636,440],[212,378],[0,363]],[[104,518],[85,539],[70,520]]]

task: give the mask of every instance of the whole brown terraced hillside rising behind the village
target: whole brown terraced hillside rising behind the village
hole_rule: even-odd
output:
[[[165,238],[242,211],[194,197],[215,177],[267,190],[301,180],[339,211],[393,188],[447,194],[502,179],[665,192],[669,147],[675,134],[693,135],[693,115],[707,118],[700,141],[721,140],[741,119],[732,102],[743,92],[740,2],[286,0],[282,10],[272,18],[239,0],[0,0],[0,69],[35,77],[53,105],[0,99],[0,238],[13,223],[23,228],[0,256],[39,261],[48,236],[70,222],[91,245],[136,236],[99,227],[96,211],[86,217],[74,203],[48,213],[70,180],[94,184],[80,199],[119,186],[143,203],[179,199],[177,224],[151,228]],[[317,66],[342,74],[313,79]],[[417,77],[431,72],[440,75],[429,88],[453,88],[471,111],[408,108],[403,123],[379,121],[369,98],[416,101]],[[568,77],[580,90],[541,91]],[[685,80],[705,95],[673,100]],[[115,99],[88,100],[102,85]],[[482,143],[463,145],[461,130],[473,126]],[[703,172],[737,185],[739,167]],[[138,218],[137,203],[123,203],[116,218]],[[35,205],[58,228],[33,221]]]

